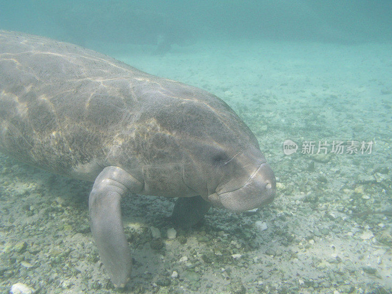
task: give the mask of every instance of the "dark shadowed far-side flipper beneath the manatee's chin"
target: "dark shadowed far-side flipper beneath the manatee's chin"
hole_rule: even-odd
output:
[[[172,221],[180,227],[190,228],[203,219],[210,207],[201,196],[180,197],[175,202]]]

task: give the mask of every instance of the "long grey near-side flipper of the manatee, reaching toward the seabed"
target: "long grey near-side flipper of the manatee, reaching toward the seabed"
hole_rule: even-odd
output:
[[[109,166],[99,173],[89,197],[90,226],[106,271],[116,287],[124,287],[132,267],[121,219],[121,197],[139,192],[143,183],[123,169]]]

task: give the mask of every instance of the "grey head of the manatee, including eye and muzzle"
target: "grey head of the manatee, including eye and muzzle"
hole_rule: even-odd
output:
[[[155,118],[174,134],[186,187],[214,206],[236,212],[271,202],[275,176],[250,129],[220,98],[175,86],[166,88],[173,99]]]

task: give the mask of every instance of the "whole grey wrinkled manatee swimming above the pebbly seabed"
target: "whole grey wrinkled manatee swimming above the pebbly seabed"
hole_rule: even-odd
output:
[[[275,177],[255,136],[220,98],[98,52],[0,31],[0,150],[94,181],[91,230],[113,283],[131,256],[120,199],[179,198],[172,218],[195,224],[211,205],[269,203]]]

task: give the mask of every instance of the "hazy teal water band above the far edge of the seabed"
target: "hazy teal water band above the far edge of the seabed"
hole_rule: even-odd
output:
[[[352,44],[392,40],[391,2],[2,1],[0,26],[80,43],[240,38]]]

